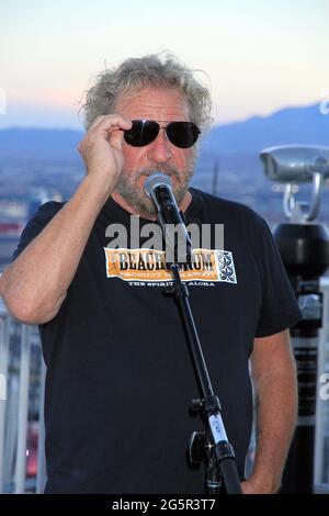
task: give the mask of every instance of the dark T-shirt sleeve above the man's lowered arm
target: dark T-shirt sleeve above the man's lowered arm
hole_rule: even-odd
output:
[[[262,303],[256,337],[266,337],[291,328],[303,315],[273,235],[259,216],[258,226],[253,237],[258,239],[254,249],[260,268]]]

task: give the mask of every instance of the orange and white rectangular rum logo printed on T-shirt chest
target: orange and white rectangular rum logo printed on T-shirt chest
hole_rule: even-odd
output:
[[[111,249],[104,247],[106,277],[124,281],[158,282],[172,280],[166,269],[164,251],[155,249]],[[183,281],[237,283],[232,254],[218,249],[193,249],[192,262],[181,269]]]

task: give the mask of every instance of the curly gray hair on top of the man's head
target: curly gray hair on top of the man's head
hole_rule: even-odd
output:
[[[171,54],[152,54],[124,60],[117,68],[102,71],[95,83],[87,91],[84,126],[88,130],[97,116],[113,113],[118,97],[143,88],[177,88],[186,98],[191,121],[200,128],[211,122],[211,96],[206,87]]]

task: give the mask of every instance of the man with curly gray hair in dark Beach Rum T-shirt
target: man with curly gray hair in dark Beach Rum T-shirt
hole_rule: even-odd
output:
[[[103,71],[84,104],[78,148],[87,175],[69,201],[39,206],[0,279],[10,312],[41,328],[46,493],[204,492],[204,464],[186,460],[190,435],[203,430],[188,410],[197,382],[179,312],[163,295],[172,280],[166,254],[146,232],[156,213],[144,184],[155,171],[170,176],[186,224],[211,229],[181,274],[242,492],[280,487],[296,418],[287,328],[300,313],[264,221],[190,187],[209,110],[207,89],[172,56],[131,58]],[[214,243],[217,224],[225,247]],[[131,238],[114,246],[109,235],[118,228]],[[258,436],[243,480],[249,361]]]

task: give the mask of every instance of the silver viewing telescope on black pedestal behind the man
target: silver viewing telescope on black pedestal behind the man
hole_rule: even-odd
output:
[[[273,231],[290,281],[303,312],[291,330],[298,374],[298,423],[286,463],[285,493],[311,493],[315,424],[318,395],[318,341],[322,326],[320,278],[329,266],[329,233],[315,221],[325,179],[329,178],[329,147],[286,145],[260,153],[269,179],[284,183],[287,223]],[[308,202],[296,201],[296,184],[311,183]]]

